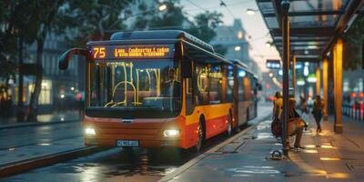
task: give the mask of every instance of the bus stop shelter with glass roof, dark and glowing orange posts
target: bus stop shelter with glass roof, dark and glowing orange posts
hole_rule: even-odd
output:
[[[334,131],[342,133],[342,35],[359,14],[364,12],[363,0],[256,0],[268,27],[273,44],[283,62],[283,135],[287,138],[288,71],[296,62],[318,63],[316,93],[322,80],[325,115],[328,117],[329,80],[334,94]],[[345,61],[345,60],[344,60]],[[296,87],[295,69],[291,71],[292,86]],[[332,72],[332,77],[329,77]],[[322,74],[322,76],[321,76]],[[283,152],[287,155],[286,142]]]

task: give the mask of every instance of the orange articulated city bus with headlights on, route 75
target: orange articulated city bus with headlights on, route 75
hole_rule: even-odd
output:
[[[86,146],[195,147],[257,116],[258,78],[179,30],[118,32],[86,57]]]

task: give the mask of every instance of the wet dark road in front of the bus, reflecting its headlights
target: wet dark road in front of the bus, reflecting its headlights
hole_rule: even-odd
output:
[[[204,151],[225,141],[221,134],[207,141]],[[0,181],[157,181],[199,153],[177,148],[111,148],[87,157],[37,168]]]

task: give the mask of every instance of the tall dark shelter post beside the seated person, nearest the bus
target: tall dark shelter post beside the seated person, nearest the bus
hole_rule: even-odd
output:
[[[282,6],[282,40],[283,40],[283,116],[282,116],[282,150],[283,155],[288,157],[288,99],[289,99],[289,1],[281,1]]]

